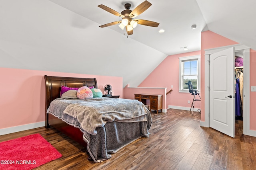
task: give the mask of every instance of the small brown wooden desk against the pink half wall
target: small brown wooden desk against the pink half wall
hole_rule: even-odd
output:
[[[162,111],[163,105],[162,105],[162,96],[158,94],[134,94],[134,99],[142,102],[143,104],[147,104],[146,100],[150,100],[150,106],[149,110],[156,110],[156,113],[158,114],[158,110]]]

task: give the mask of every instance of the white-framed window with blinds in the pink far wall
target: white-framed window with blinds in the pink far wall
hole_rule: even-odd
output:
[[[200,55],[180,57],[180,92],[189,93],[188,81],[191,81],[193,89],[200,91]]]

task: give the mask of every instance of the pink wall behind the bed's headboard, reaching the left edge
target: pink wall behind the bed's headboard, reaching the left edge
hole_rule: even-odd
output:
[[[102,92],[111,84],[114,94],[123,96],[121,77],[0,68],[0,129],[44,121],[44,75],[96,78]]]

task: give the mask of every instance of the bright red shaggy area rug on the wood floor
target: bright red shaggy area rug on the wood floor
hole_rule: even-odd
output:
[[[0,143],[0,170],[31,170],[61,156],[40,134],[28,135]]]

